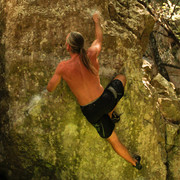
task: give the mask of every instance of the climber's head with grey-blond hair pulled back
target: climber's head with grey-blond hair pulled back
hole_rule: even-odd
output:
[[[70,32],[66,37],[66,49],[69,52],[80,54],[84,47],[84,38],[79,32]]]

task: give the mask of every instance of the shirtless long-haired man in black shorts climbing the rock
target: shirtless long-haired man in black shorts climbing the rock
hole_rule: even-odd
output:
[[[71,58],[61,61],[49,81],[47,90],[52,92],[63,78],[70,87],[87,120],[96,128],[102,138],[113,149],[137,169],[141,169],[140,156],[132,157],[121,144],[114,131],[114,108],[124,94],[126,78],[118,75],[104,89],[100,84],[98,55],[101,51],[103,33],[98,13],[93,15],[96,39],[91,47],[84,49],[84,38],[79,32],[71,32],[66,37],[66,49]]]

